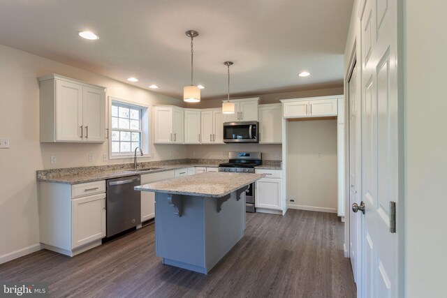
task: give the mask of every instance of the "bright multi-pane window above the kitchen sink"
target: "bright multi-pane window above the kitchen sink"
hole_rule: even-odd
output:
[[[116,99],[110,105],[110,156],[129,156],[137,147],[148,154],[147,107]]]

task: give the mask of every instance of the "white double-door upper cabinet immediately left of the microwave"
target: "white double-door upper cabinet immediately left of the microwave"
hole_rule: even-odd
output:
[[[222,109],[202,110],[200,126],[202,144],[223,144]]]

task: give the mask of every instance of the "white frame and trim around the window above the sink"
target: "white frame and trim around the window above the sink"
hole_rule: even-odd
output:
[[[149,115],[150,115],[150,106],[145,105],[144,103],[135,103],[130,100],[122,99],[122,98],[116,98],[114,96],[108,97],[108,146],[109,146],[109,159],[119,159],[119,158],[129,158],[133,157],[134,153],[112,153],[112,101],[117,101],[119,103],[122,103],[123,105],[131,105],[135,107],[141,108],[141,149],[142,153],[146,157],[151,157],[151,138],[150,138],[150,122],[149,122]]]

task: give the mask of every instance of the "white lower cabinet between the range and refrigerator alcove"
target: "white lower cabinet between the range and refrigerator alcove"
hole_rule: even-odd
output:
[[[283,214],[283,190],[281,170],[255,170],[256,174],[266,174],[255,184],[255,207],[257,212]]]

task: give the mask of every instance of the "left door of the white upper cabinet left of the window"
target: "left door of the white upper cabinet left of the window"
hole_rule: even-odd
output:
[[[56,120],[56,142],[82,142],[82,85],[56,80],[56,114],[46,116]]]

